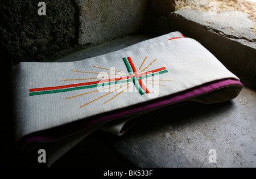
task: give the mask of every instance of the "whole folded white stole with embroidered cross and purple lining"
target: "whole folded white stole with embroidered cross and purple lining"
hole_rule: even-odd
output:
[[[221,103],[242,87],[180,32],[82,61],[22,62],[13,68],[15,136],[20,147],[34,148],[85,129],[122,135],[144,113],[184,101]]]

